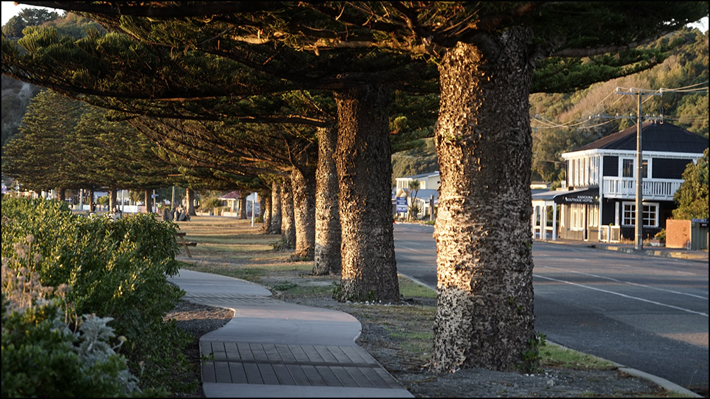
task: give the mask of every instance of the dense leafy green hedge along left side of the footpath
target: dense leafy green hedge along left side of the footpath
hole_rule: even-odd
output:
[[[3,200],[1,214],[3,258],[27,252],[22,266],[37,273],[42,285],[71,287],[66,300],[72,315],[112,318],[110,327],[126,338],[120,353],[141,388],[163,387],[168,376],[184,371],[187,335],[163,321],[182,296],[166,278],[178,273],[175,224],[146,214],[80,217],[50,200]],[[24,244],[28,237],[32,242]],[[4,343],[3,362],[5,352]],[[3,368],[3,386],[5,374]]]

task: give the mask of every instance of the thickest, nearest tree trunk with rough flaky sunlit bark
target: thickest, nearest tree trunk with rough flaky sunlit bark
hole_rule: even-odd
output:
[[[479,46],[459,43],[439,65],[432,356],[439,373],[510,370],[535,349],[530,35],[511,29],[488,39]]]

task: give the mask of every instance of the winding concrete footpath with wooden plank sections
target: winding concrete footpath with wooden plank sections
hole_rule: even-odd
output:
[[[180,270],[186,300],[234,310],[200,339],[207,398],[413,398],[355,344],[360,322],[344,312],[293,305],[261,285]]]

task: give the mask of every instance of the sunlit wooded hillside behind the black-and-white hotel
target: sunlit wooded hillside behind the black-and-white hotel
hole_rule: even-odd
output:
[[[532,124],[532,180],[559,181],[564,173],[562,153],[591,143],[635,124],[632,99],[616,94],[616,87],[681,89],[651,97],[643,110],[650,116],[708,137],[708,35],[684,29],[657,40],[650,47],[674,41],[681,44],[662,64],[635,75],[600,82],[570,93],[536,93],[530,96]],[[682,40],[682,41],[681,41]],[[392,156],[396,177],[437,170],[433,141]]]

